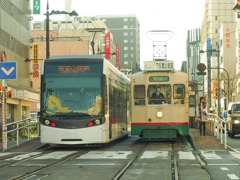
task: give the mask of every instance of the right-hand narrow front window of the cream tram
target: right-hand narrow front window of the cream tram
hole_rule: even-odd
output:
[[[173,97],[174,104],[184,104],[185,99],[185,85],[184,84],[174,84],[173,85]]]

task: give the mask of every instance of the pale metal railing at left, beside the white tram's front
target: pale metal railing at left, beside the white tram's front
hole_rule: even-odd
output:
[[[4,128],[4,135],[5,137],[2,137],[2,151],[7,150],[8,148],[8,135],[16,134],[16,146],[19,146],[19,138],[20,138],[20,131],[24,131],[24,133],[27,133],[27,141],[30,140],[30,135],[32,134],[31,130],[33,128],[37,128],[37,137],[39,137],[39,117],[31,117],[28,119],[23,119],[20,121],[12,122],[5,124],[3,126]]]

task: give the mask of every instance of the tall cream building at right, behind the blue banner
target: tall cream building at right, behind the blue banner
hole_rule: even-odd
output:
[[[217,52],[221,46],[220,28],[224,23],[233,23],[235,14],[233,9],[235,0],[206,0],[204,9],[204,18],[201,26],[201,49],[205,52],[201,54],[201,62],[207,69],[207,75],[204,77],[204,96],[207,98],[208,110],[216,109],[216,100],[213,97],[213,83],[217,83]],[[207,52],[208,51],[208,52]],[[218,86],[218,85],[217,85]]]

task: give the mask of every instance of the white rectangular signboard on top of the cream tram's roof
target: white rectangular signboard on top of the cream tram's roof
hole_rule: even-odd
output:
[[[173,71],[173,61],[144,61],[144,71]]]

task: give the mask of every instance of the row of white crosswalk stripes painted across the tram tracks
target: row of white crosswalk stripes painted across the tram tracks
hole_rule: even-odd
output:
[[[66,156],[76,153],[77,151],[55,151],[50,153],[31,152],[31,153],[0,153],[0,161],[21,161],[30,158],[31,160],[51,160],[62,159]],[[170,159],[170,151],[144,151],[139,159]],[[196,160],[193,151],[177,151],[175,155],[179,160]],[[200,151],[198,152],[206,160],[224,160],[227,155],[230,155],[233,159],[240,160],[240,153],[234,151]],[[94,160],[107,160],[107,159],[130,159],[134,153],[132,151],[90,151],[86,154],[76,156],[77,160],[82,159],[94,159]]]

